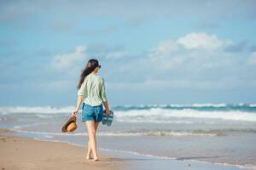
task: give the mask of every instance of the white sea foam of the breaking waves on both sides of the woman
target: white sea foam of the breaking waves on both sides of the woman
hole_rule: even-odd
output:
[[[195,107],[210,106],[213,104],[194,104]],[[225,104],[214,104],[215,107],[224,107]],[[145,105],[142,105],[143,107]],[[163,106],[163,105],[162,105]],[[184,105],[183,105],[184,106]],[[251,104],[249,107],[253,107]],[[165,106],[164,106],[165,107]],[[0,107],[0,113],[31,113],[39,117],[49,118],[56,113],[69,113],[73,106],[67,107]],[[161,107],[150,109],[131,109],[127,111],[114,111],[115,120],[119,122],[156,122],[156,123],[193,123],[201,120],[226,120],[241,122],[256,122],[256,112],[250,111],[198,111],[192,108],[166,109]],[[189,119],[189,120],[187,120]],[[2,120],[3,121],[3,120]]]

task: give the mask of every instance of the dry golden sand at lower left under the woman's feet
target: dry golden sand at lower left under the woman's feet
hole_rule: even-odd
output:
[[[85,160],[85,148],[61,142],[46,142],[17,136],[4,136],[0,130],[0,169],[120,169],[118,162],[100,155],[100,161]]]

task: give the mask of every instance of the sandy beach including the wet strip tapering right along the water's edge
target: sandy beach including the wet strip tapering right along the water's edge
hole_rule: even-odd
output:
[[[222,166],[196,161],[178,161],[152,156],[139,156],[119,152],[100,152],[100,161],[85,159],[85,147],[63,142],[41,141],[31,137],[15,136],[17,133],[0,129],[1,170],[45,169],[170,169],[177,170],[237,170],[238,167]]]

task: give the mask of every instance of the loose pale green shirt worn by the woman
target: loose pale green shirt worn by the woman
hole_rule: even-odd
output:
[[[104,79],[90,73],[84,78],[84,82],[78,90],[78,95],[83,96],[83,101],[87,105],[101,105],[102,102],[107,101]]]

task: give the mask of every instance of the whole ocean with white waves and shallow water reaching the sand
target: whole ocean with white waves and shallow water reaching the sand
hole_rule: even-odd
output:
[[[256,169],[256,104],[111,105],[99,150]],[[74,133],[61,133],[73,106],[0,107],[0,128],[15,135],[86,145],[81,115]]]

